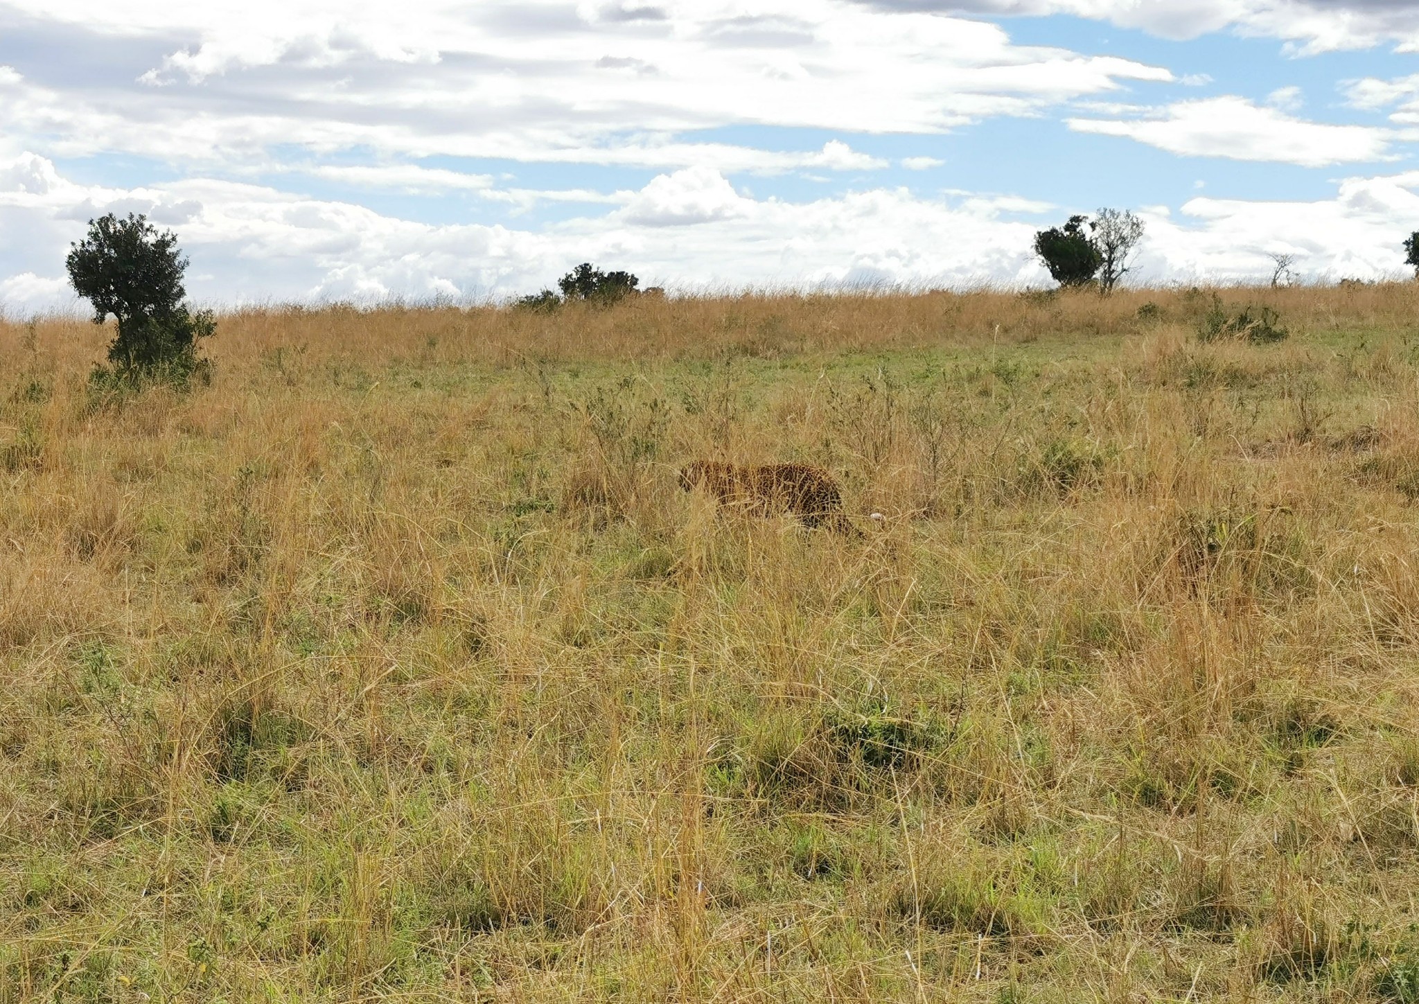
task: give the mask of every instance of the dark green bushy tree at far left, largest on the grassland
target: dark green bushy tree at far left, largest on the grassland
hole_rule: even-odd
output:
[[[184,380],[203,364],[197,342],[217,325],[210,311],[193,313],[182,302],[187,260],[170,230],[159,233],[145,216],[121,220],[109,213],[89,220],[88,235],[70,247],[64,264],[74,291],[94,305],[94,323],[111,313],[118,320],[108,346],[118,373]]]

